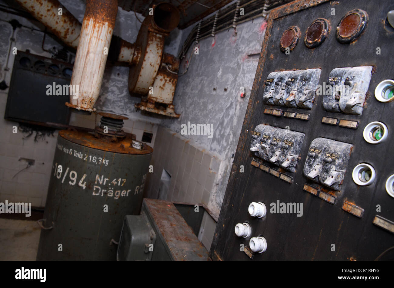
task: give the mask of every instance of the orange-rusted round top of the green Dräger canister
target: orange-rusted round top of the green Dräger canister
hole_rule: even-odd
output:
[[[106,141],[103,138],[97,138],[93,134],[87,132],[80,132],[73,130],[60,130],[59,136],[66,140],[69,140],[70,142],[80,144],[82,146],[108,151],[112,153],[143,155],[153,152],[153,148],[144,143],[142,150],[133,148],[132,134],[130,133],[125,133],[125,137],[116,142],[110,142],[110,141]]]

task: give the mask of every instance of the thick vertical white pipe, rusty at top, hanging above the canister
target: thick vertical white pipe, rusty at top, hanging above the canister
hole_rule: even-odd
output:
[[[70,95],[67,106],[95,110],[117,11],[117,0],[87,0],[71,77],[71,85],[78,92]]]

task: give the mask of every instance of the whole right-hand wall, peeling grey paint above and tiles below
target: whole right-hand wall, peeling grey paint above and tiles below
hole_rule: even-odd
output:
[[[199,42],[199,54],[192,55],[187,72],[178,78],[174,104],[181,116],[178,120],[162,120],[165,128],[160,127],[156,136],[160,145],[156,145],[152,156],[154,173],[148,174],[145,196],[207,205],[212,215],[204,214],[198,237],[208,250],[249,101],[265,26],[263,19],[257,19],[239,25],[236,36],[230,29]],[[188,60],[186,57],[182,61],[181,73]],[[245,88],[245,98],[240,97],[241,86]],[[181,135],[181,125],[187,122],[213,124],[213,137]],[[164,195],[160,193],[163,170],[171,175],[169,192]]]

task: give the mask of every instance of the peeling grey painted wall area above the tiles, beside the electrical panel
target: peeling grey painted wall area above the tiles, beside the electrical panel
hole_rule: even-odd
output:
[[[213,124],[214,135],[183,135],[201,150],[210,151],[221,160],[216,185],[211,192],[208,208],[219,214],[229,179],[232,157],[236,151],[249,95],[256,73],[266,22],[257,18],[237,26],[238,33],[229,29],[215,37],[199,41],[198,55],[191,55],[191,46],[182,60],[175,90],[175,111],[179,119],[164,119],[161,124],[176,133],[181,124]],[[183,43],[182,43],[183,44]],[[255,55],[251,55],[255,54]],[[250,55],[250,56],[249,56]],[[246,97],[240,97],[241,87]]]

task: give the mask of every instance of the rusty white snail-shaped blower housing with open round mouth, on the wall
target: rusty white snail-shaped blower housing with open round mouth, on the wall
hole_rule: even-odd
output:
[[[178,80],[179,60],[165,54],[164,38],[178,26],[179,11],[169,3],[153,7],[153,15],[142,22],[136,45],[141,55],[136,66],[130,67],[128,87],[133,96],[143,96],[136,108],[179,118],[174,111],[173,97]]]

